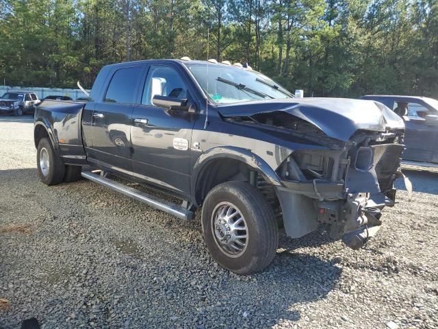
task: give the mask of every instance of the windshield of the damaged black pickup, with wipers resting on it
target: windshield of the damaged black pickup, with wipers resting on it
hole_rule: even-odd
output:
[[[185,64],[215,103],[294,97],[266,75],[225,64]]]

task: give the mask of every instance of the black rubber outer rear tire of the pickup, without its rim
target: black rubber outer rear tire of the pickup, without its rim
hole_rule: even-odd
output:
[[[43,149],[47,151],[49,167],[47,168],[47,173],[41,169],[41,156]],[[38,167],[38,178],[41,182],[46,185],[56,185],[62,183],[65,175],[65,165],[62,162],[60,156],[53,149],[52,143],[49,138],[42,138],[38,144],[38,149],[36,152],[36,165]]]

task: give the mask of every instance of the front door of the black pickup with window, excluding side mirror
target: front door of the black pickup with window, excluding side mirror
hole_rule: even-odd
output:
[[[190,142],[196,114],[155,106],[153,96],[191,98],[188,81],[172,64],[150,65],[133,109],[131,145],[133,174],[176,193],[190,193]]]

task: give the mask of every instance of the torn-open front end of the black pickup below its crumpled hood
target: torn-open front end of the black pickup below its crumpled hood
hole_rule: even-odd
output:
[[[340,149],[294,151],[279,168],[284,186],[276,188],[287,235],[326,223],[334,239],[362,247],[380,228],[381,210],[394,206],[402,138],[402,130],[363,131]]]

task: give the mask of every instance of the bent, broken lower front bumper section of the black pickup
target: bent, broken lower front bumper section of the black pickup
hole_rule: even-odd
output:
[[[318,228],[331,226],[330,235],[359,249],[381,226],[381,210],[393,206],[389,193],[348,193],[342,182],[283,182],[276,186],[287,236],[299,238]],[[391,196],[390,199],[387,195]]]

